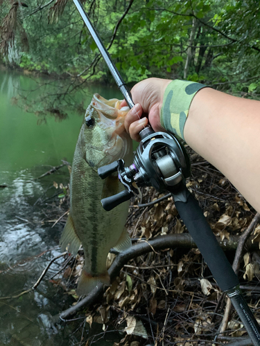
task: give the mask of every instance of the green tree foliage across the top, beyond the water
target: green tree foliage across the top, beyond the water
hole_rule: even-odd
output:
[[[113,82],[73,1],[21,4],[0,1],[3,60],[12,62],[15,49],[23,69],[66,75],[64,93],[87,81]],[[84,6],[126,82],[184,78],[259,96],[259,1],[87,0]]]

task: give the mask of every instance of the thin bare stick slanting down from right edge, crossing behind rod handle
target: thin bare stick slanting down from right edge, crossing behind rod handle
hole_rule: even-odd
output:
[[[245,230],[245,232],[241,235],[241,237],[239,239],[239,244],[236,248],[236,255],[234,257],[234,262],[232,265],[232,268],[236,274],[239,272],[239,264],[241,262],[241,255],[243,253],[243,249],[245,248],[245,243],[248,240],[248,238],[250,237],[251,233],[253,232],[255,226],[257,226],[259,220],[260,220],[260,214],[259,214],[259,212],[257,212],[254,219],[252,219],[250,225],[248,226],[248,229]],[[225,332],[225,330],[227,329],[227,322],[229,319],[229,313],[230,313],[231,307],[232,307],[231,300],[228,298],[227,305],[225,307],[225,313],[223,316],[223,320],[220,324],[220,327],[218,328],[218,334],[223,334]],[[240,344],[237,344],[237,345],[240,345]]]

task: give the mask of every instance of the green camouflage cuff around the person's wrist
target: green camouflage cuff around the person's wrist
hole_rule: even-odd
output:
[[[191,101],[205,87],[207,85],[187,80],[173,80],[168,84],[160,112],[160,122],[166,131],[184,139],[183,130]]]

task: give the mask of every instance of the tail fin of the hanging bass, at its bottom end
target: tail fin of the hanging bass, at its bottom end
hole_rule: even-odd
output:
[[[92,274],[87,272],[86,266],[83,266],[76,292],[78,295],[87,295],[100,282],[107,285],[110,284],[110,275],[108,274],[107,270],[105,270],[104,273],[92,276]]]

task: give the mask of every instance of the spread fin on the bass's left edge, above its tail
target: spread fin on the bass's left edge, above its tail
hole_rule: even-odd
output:
[[[74,223],[71,215],[69,215],[62,236],[60,237],[60,247],[61,251],[65,251],[68,246],[67,251],[72,253],[73,256],[76,256],[78,249],[80,248],[80,239],[74,228]]]

